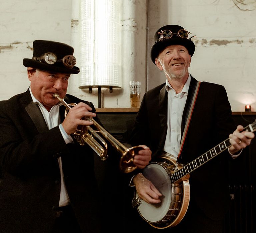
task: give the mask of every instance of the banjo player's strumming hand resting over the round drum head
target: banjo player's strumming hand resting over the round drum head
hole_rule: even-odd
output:
[[[141,173],[134,176],[133,183],[135,184],[136,191],[142,200],[147,203],[161,202],[159,197],[161,197],[162,194],[157,190],[152,182],[146,179]]]

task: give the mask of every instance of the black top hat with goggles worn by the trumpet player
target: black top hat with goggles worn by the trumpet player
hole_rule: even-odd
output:
[[[55,41],[35,40],[33,48],[33,58],[23,59],[25,67],[67,74],[80,72],[80,69],[75,66],[74,49],[71,46]]]

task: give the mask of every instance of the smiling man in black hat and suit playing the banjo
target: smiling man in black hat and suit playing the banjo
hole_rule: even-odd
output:
[[[189,74],[195,45],[184,28],[163,26],[154,39],[151,60],[165,73],[166,83],[144,95],[130,143],[149,146],[153,161],[159,161],[164,155],[179,164],[187,164],[229,137],[230,145],[223,142],[227,150],[203,166],[200,166],[201,161],[205,162],[203,158],[195,164],[198,169],[189,178],[188,209],[180,223],[169,229],[172,233],[223,232],[224,216],[229,207],[227,163],[241,154],[254,133],[242,131],[241,125],[235,127],[223,86],[199,82]],[[218,145],[220,151],[221,145]],[[210,153],[213,156],[216,151]],[[136,186],[139,198],[149,205],[160,206],[167,198],[142,173],[135,175],[131,183]],[[156,221],[161,222],[161,219]],[[147,230],[150,225],[141,222]],[[156,228],[149,227],[148,232]]]

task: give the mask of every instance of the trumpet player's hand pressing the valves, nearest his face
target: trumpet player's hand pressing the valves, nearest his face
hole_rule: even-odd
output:
[[[95,113],[91,113],[92,108],[85,103],[80,102],[78,105],[72,107],[64,121],[62,122],[62,126],[66,133],[69,135],[75,132],[78,125],[91,125],[93,124],[90,120],[83,120],[83,117],[94,117]]]

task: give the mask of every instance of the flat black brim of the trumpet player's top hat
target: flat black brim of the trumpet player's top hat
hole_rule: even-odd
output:
[[[72,69],[65,68],[65,67],[52,66],[52,65],[45,64],[40,61],[35,61],[29,58],[23,59],[23,65],[25,67],[32,67],[40,70],[53,71],[58,73],[78,74],[80,72],[80,69],[76,66],[74,66]]]

